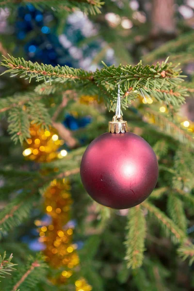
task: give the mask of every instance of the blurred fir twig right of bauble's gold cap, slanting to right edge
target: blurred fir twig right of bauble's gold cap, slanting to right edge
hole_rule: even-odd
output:
[[[192,147],[194,146],[193,137],[186,130],[181,129],[178,124],[170,121],[165,115],[148,107],[144,108],[144,114],[145,121],[149,123],[149,118],[154,118],[154,125],[160,128],[162,132],[174,137],[183,144],[189,144]]]

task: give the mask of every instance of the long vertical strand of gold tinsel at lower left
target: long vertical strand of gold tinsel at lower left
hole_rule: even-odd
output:
[[[73,226],[69,225],[70,207],[73,202],[69,191],[67,180],[54,179],[44,194],[45,211],[51,217],[51,224],[40,228],[40,241],[46,246],[46,261],[54,269],[61,270],[58,277],[50,279],[56,285],[66,283],[67,279],[76,273],[75,267],[80,263],[76,252],[77,245],[72,243]],[[84,278],[76,280],[75,288],[76,291],[92,290]]]

